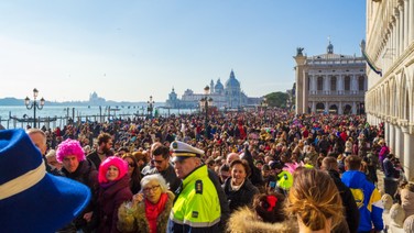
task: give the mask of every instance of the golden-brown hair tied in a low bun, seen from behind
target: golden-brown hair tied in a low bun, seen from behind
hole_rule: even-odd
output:
[[[342,200],[330,176],[322,170],[302,168],[293,174],[293,186],[287,197],[286,214],[318,231],[339,225],[344,220]]]

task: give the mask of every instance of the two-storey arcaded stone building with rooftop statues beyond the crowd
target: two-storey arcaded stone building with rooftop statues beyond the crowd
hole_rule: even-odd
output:
[[[367,91],[363,57],[334,53],[329,42],[326,54],[307,57],[297,48],[296,113],[363,113]]]

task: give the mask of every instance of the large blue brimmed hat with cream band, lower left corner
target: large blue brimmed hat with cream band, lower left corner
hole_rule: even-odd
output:
[[[0,131],[2,232],[55,232],[89,200],[85,185],[46,173],[41,152],[23,130]]]

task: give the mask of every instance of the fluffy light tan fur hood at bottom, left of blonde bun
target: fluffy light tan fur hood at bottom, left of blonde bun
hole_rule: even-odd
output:
[[[285,220],[284,222],[268,223],[263,222],[254,211],[244,207],[235,211],[228,223],[227,232],[231,233],[296,233],[298,226],[294,220]]]

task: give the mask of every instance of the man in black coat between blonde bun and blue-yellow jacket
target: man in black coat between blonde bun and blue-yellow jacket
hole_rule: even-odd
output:
[[[338,188],[342,204],[345,207],[345,217],[348,223],[349,232],[358,232],[359,225],[359,210],[353,199],[351,190],[340,180],[338,162],[335,157],[326,157],[322,162],[320,169],[326,170],[334,179],[336,187]]]

